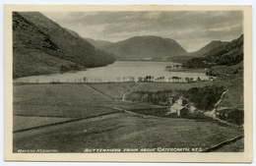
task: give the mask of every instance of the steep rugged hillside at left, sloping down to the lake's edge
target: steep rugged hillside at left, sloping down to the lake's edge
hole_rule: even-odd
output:
[[[13,12],[14,78],[56,73],[62,65],[90,68],[114,61],[38,12]]]

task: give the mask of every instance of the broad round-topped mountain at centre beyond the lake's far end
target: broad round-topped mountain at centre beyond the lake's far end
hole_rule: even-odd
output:
[[[152,35],[134,36],[100,48],[122,59],[166,59],[171,56],[188,54],[175,40]]]

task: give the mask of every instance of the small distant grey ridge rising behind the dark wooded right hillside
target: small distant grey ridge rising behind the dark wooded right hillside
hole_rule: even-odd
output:
[[[218,40],[218,41],[214,40],[214,41],[211,41],[206,46],[202,47],[200,50],[191,52],[190,55],[191,56],[203,56],[204,54],[210,52],[211,50],[218,48],[222,45],[225,45],[226,43],[228,43],[228,42],[221,41],[221,40]]]

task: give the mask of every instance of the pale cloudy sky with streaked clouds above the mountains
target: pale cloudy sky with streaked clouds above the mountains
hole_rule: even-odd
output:
[[[138,35],[176,40],[188,52],[243,33],[241,11],[41,12],[82,37],[112,42]]]

